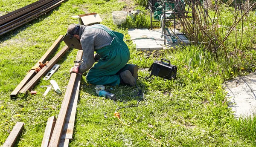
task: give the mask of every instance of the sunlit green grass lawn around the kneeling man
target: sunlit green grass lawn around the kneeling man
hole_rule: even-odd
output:
[[[0,1],[0,12],[5,14],[5,11],[13,11],[29,3],[28,0],[9,0],[8,3]],[[15,123],[22,121],[25,123],[25,130],[16,145],[38,147],[41,145],[47,119],[52,115],[58,116],[70,79],[69,69],[76,59],[76,49],[70,49],[61,58],[58,62],[61,66],[51,78],[57,81],[62,95],[51,90],[44,97],[46,87],[41,86],[50,84],[44,80],[34,88],[37,95],[20,95],[17,100],[11,100],[9,95],[58,36],[65,34],[67,26],[78,22],[71,16],[83,14],[84,11],[99,13],[102,24],[123,33],[125,40],[128,40],[131,23],[115,26],[111,15],[112,11],[122,10],[125,6],[125,2],[117,0],[69,0],[50,13],[1,36],[0,145],[3,145]],[[141,15],[142,23],[146,24],[143,27],[149,27],[147,11],[143,12],[146,15]],[[140,23],[140,20],[137,22]],[[245,25],[252,27],[249,23]],[[247,33],[249,37],[250,33]],[[236,121],[233,112],[227,107],[226,92],[222,87],[222,83],[228,79],[255,71],[256,50],[244,49],[243,56],[234,59],[220,56],[216,61],[214,55],[202,47],[191,45],[175,49],[174,52],[160,51],[160,56],[151,54],[148,58],[148,53],[137,52],[131,41],[126,43],[131,51],[129,63],[139,66],[140,76],[148,76],[150,73],[142,69],[148,68],[160,58],[169,59],[172,64],[177,65],[178,73],[174,81],[163,81],[155,77],[150,83],[139,78],[138,86],[145,91],[145,98],[139,107],[118,111],[123,122],[160,139],[163,147],[256,145],[253,125],[255,118]],[[57,50],[61,50],[63,46],[62,42]],[[248,42],[247,46],[255,46],[255,42]],[[75,131],[70,147],[158,147],[157,141],[145,133],[122,125],[113,115],[118,107],[137,104],[139,97],[121,96],[136,93],[133,92],[136,88],[107,86],[106,88],[112,87],[111,92],[123,101],[114,103],[98,97],[94,87],[95,85],[87,85],[85,76],[82,77]]]

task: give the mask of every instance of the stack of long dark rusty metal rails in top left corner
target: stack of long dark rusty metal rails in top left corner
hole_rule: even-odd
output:
[[[0,17],[0,35],[16,29],[25,23],[51,11],[67,0],[39,0]]]

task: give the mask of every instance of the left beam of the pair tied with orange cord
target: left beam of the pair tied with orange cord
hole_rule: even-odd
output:
[[[52,46],[47,50],[46,53],[39,59],[39,61],[35,64],[35,66],[39,66],[39,62],[45,63],[49,56],[57,49],[58,45],[60,44],[63,35],[60,35],[57,40],[52,44]],[[20,89],[22,89],[34,76],[36,75],[35,70],[29,71],[29,73],[23,78],[23,80],[18,84],[18,86],[13,90],[11,93],[11,98],[16,98],[17,94],[19,93]]]

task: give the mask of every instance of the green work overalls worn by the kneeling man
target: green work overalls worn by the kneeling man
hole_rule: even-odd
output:
[[[119,74],[127,70],[126,63],[130,59],[130,51],[123,41],[124,35],[119,32],[108,30],[105,26],[96,24],[91,28],[103,29],[113,37],[109,46],[97,49],[96,53],[100,55],[99,62],[96,63],[87,73],[86,80],[96,85],[112,85],[120,84]],[[88,28],[88,29],[91,29]]]

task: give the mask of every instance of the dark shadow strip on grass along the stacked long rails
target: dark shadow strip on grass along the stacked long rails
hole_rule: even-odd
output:
[[[53,13],[53,11],[58,10],[60,6],[57,6],[55,9],[52,9],[51,11],[47,12],[46,14],[41,15],[40,17],[37,17],[36,19],[23,24],[22,26],[17,27],[16,29],[7,32],[3,35],[0,36],[0,43],[4,42],[6,40],[11,39],[12,37],[15,37],[17,34],[19,34],[20,32],[23,32],[24,30],[26,30],[27,27],[34,25],[35,23],[38,23],[42,20],[44,20],[45,18],[47,18],[49,15],[51,15]]]

